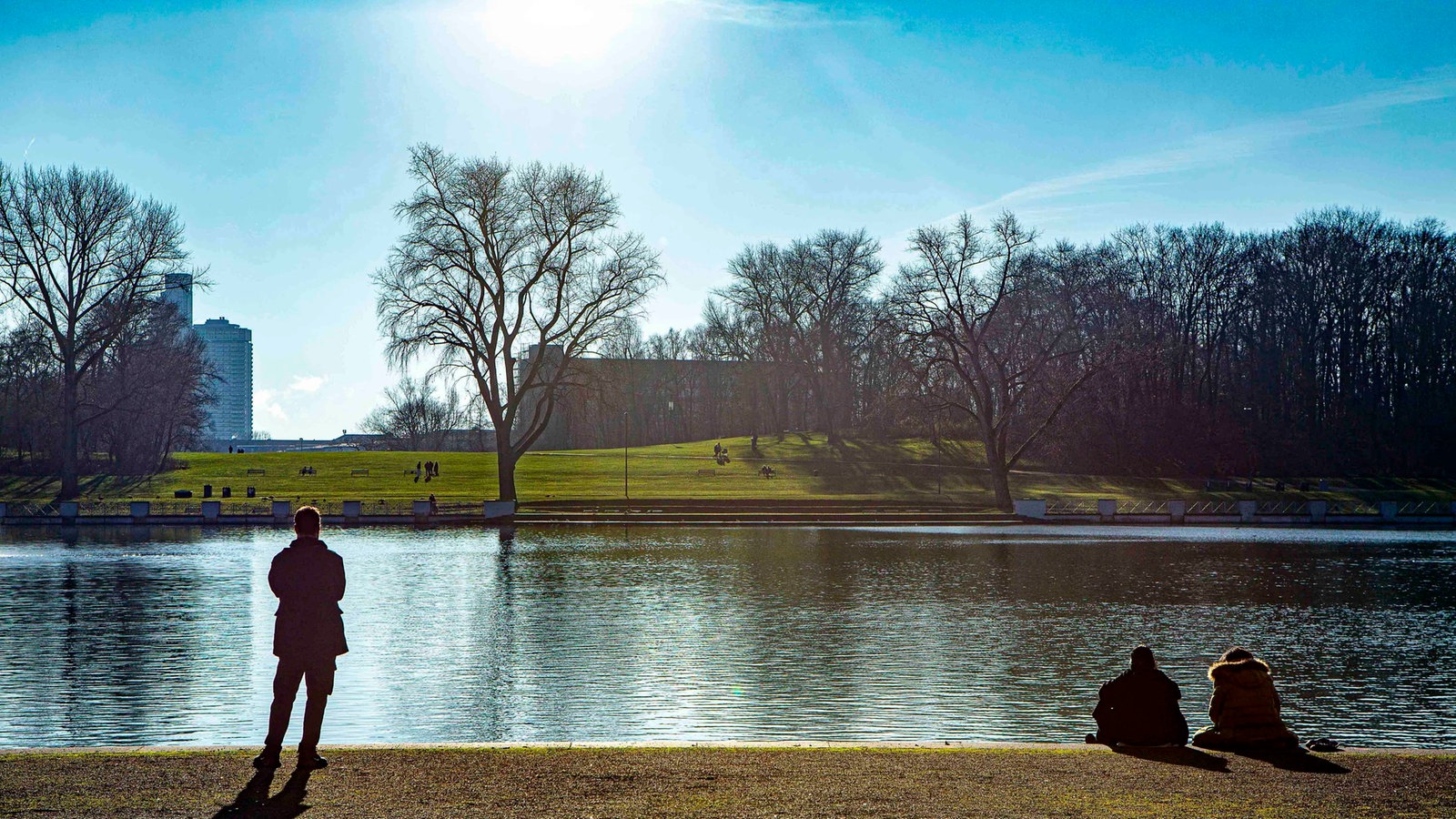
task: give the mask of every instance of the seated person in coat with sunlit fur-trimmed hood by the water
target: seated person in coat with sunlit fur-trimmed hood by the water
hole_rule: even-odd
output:
[[[1299,737],[1278,716],[1278,694],[1270,667],[1246,648],[1229,648],[1208,669],[1213,724],[1192,743],[1214,751],[1297,749]]]

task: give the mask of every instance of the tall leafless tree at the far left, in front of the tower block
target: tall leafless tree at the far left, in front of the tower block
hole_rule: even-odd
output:
[[[182,223],[106,171],[0,165],[0,300],[45,329],[60,372],[61,498],[79,494],[80,385],[182,271]]]

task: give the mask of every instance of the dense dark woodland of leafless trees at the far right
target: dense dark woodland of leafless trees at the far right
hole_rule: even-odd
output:
[[[1077,399],[1075,468],[1436,475],[1456,455],[1456,236],[1326,208],[1267,233],[1134,227],[1108,246],[1146,356]]]

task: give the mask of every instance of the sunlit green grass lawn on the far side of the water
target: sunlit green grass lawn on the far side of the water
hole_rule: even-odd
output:
[[[967,442],[942,442],[938,450],[923,439],[866,442],[830,446],[823,436],[791,434],[783,440],[760,437],[753,453],[748,439],[722,439],[731,463],[713,463],[713,442],[632,447],[628,481],[633,498],[776,498],[776,500],[917,500],[958,506],[990,506],[981,449]],[[89,477],[83,481],[87,500],[170,498],[173,490],[192,490],[201,497],[204,484],[215,491],[232,487],[224,504],[248,503],[246,487],[259,498],[294,501],[363,500],[403,501],[435,494],[441,501],[496,497],[495,455],[472,452],[278,452],[246,455],[182,453],[179,469],[149,478]],[[415,463],[438,461],[441,477],[415,482]],[[769,465],[773,479],[759,469]],[[300,475],[313,466],[316,475]],[[249,471],[255,471],[249,474]],[[367,474],[355,474],[367,471]],[[536,452],[524,456],[517,471],[523,501],[609,500],[623,494],[620,449]],[[408,472],[408,474],[406,474]],[[51,478],[0,477],[0,500],[26,501],[55,497],[58,481]],[[1016,497],[1163,500],[1232,498],[1226,493],[1203,493],[1201,484],[1166,478],[1125,478],[1022,471],[1012,477]],[[1358,485],[1310,497],[1398,497],[1440,500],[1456,494],[1450,482],[1392,481]],[[1245,495],[1246,497],[1246,495]],[[1286,493],[1287,498],[1300,495]],[[256,503],[256,501],[253,501]],[[226,506],[224,506],[226,509]]]

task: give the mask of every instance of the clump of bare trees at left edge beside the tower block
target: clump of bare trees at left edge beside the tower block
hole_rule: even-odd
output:
[[[93,453],[157,469],[197,437],[201,345],[160,299],[188,268],[176,213],[105,171],[0,163],[0,453],[76,497]]]

